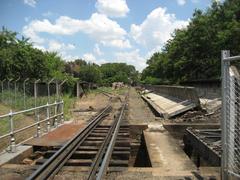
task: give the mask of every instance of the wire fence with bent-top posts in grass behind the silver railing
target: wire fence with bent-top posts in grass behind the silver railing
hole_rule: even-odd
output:
[[[0,81],[0,102],[18,110],[54,103],[62,99],[65,82],[4,79]]]

